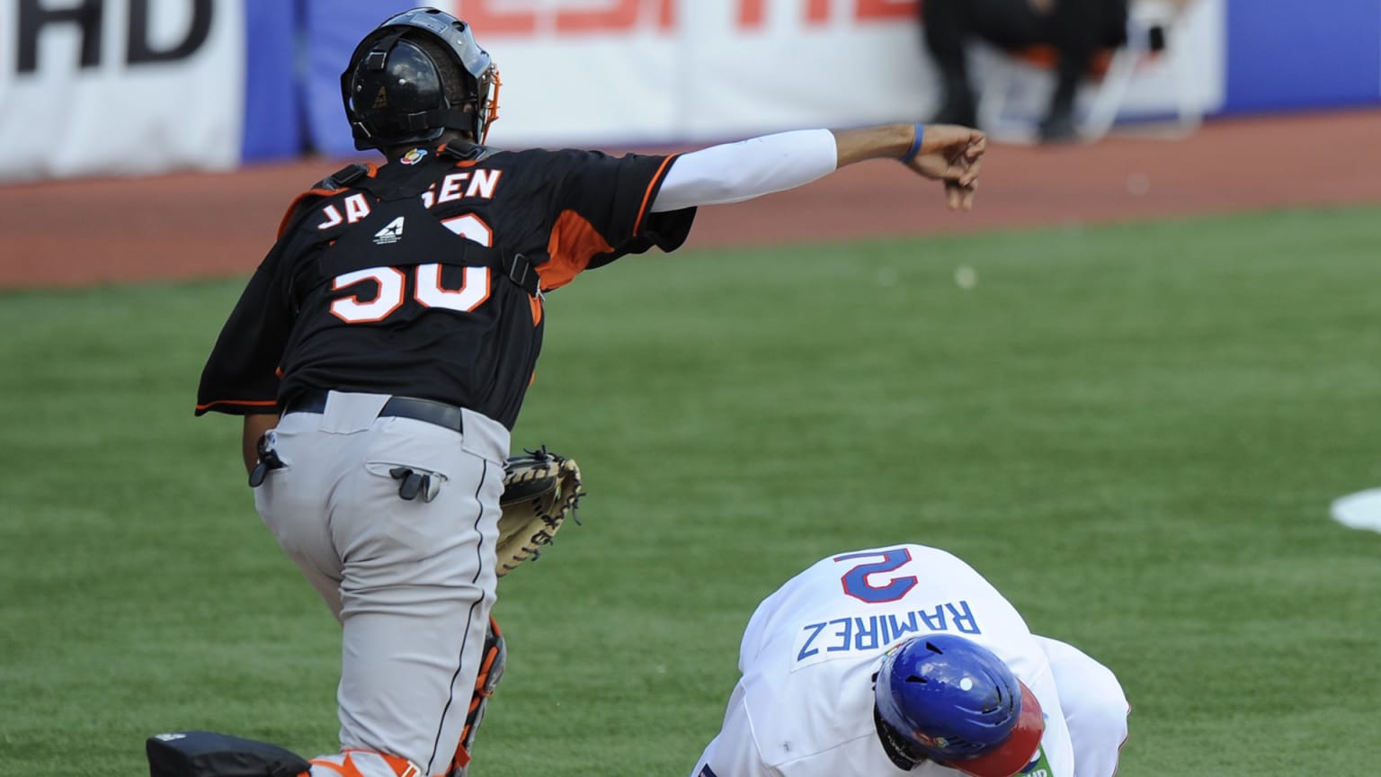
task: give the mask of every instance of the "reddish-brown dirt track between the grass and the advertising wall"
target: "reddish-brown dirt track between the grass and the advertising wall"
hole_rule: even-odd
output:
[[[1381,202],[1359,152],[1381,111],[1217,120],[1189,138],[996,145],[978,205],[950,213],[898,165],[849,167],[802,189],[702,209],[689,246],[766,245],[1243,209]],[[0,289],[247,274],[291,198],[338,160],[0,187]]]

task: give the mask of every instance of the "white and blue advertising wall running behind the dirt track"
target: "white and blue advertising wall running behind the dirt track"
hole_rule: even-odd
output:
[[[417,0],[421,1],[421,0]],[[1381,102],[1381,3],[1188,1],[1123,119]],[[413,0],[0,0],[0,181],[358,156],[340,73]],[[436,0],[504,87],[499,147],[679,145],[917,120],[918,0]],[[975,47],[979,83],[1000,59]],[[1329,51],[1329,57],[1317,55]],[[1032,77],[1033,76],[1034,80]],[[1039,115],[1048,75],[1008,79]]]

